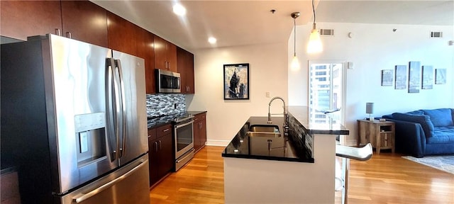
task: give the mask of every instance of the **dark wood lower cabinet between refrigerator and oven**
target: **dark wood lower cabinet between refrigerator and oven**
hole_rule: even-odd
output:
[[[150,133],[151,132],[151,133]],[[148,163],[150,167],[150,187],[169,174],[174,166],[172,132],[160,136],[156,129],[148,130]]]

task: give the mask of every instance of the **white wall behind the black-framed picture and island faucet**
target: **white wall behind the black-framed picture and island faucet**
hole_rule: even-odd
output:
[[[209,145],[227,145],[250,116],[267,115],[272,97],[287,101],[287,43],[196,50],[194,57],[196,94],[186,96],[187,110],[208,111]],[[223,64],[238,63],[250,64],[250,99],[224,101]],[[271,108],[282,113],[282,102]]]

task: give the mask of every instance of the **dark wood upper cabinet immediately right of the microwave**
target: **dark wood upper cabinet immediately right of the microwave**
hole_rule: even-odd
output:
[[[177,68],[182,94],[194,94],[194,55],[177,47]]]

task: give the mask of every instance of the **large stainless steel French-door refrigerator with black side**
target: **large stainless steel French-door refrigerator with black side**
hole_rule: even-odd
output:
[[[48,34],[1,45],[0,76],[22,203],[149,203],[143,59]]]

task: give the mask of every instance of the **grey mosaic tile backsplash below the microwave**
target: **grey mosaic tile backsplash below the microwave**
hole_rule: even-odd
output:
[[[147,94],[148,118],[186,112],[184,94]]]

